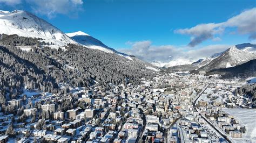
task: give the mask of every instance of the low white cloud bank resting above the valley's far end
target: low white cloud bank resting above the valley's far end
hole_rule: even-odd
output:
[[[210,45],[206,47],[176,47],[173,45],[154,46],[149,40],[126,42],[131,45],[129,49],[120,49],[120,52],[137,56],[147,62],[161,61],[169,62],[176,59],[187,59],[197,61],[206,58],[214,53],[220,53],[230,48],[232,45]]]

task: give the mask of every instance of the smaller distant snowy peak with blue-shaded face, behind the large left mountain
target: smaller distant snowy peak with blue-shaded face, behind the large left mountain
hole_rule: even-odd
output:
[[[105,44],[103,44],[102,41],[99,41],[98,39],[93,38],[89,34],[86,34],[82,31],[66,33],[66,35],[68,35],[70,38],[72,38],[79,44],[82,44],[88,48],[98,49],[98,50],[104,51],[106,53],[116,53],[120,56],[124,56],[125,58],[132,60],[132,58],[129,55],[120,53],[120,52],[116,51],[115,49],[106,46]]]

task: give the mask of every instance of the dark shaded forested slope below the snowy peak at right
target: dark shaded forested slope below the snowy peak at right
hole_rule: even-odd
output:
[[[223,77],[254,77],[256,76],[256,60],[250,60],[241,65],[224,68],[224,69],[215,69],[207,73],[207,75],[219,74]]]

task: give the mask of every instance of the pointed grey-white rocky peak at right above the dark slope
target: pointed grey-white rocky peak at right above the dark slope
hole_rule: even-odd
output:
[[[242,63],[256,59],[255,53],[241,51],[233,46],[223,52],[218,58],[215,58],[207,65],[199,68],[198,70],[211,71],[215,69],[230,68],[241,65]]]

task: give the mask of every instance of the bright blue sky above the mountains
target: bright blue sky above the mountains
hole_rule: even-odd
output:
[[[150,41],[150,46],[154,47],[186,47],[183,51],[209,45],[236,45],[255,41],[248,38],[252,33],[237,32],[239,26],[231,24],[220,26],[225,27],[224,31],[220,29],[221,32],[215,31],[215,26],[214,29],[210,28],[213,30],[210,33],[184,31],[199,24],[224,23],[256,7],[255,0],[56,0],[51,8],[46,8],[46,4],[51,2],[0,0],[0,9],[30,11],[65,33],[83,31],[109,47],[128,53],[131,51],[127,50],[139,41]],[[196,38],[195,41],[193,38]]]

